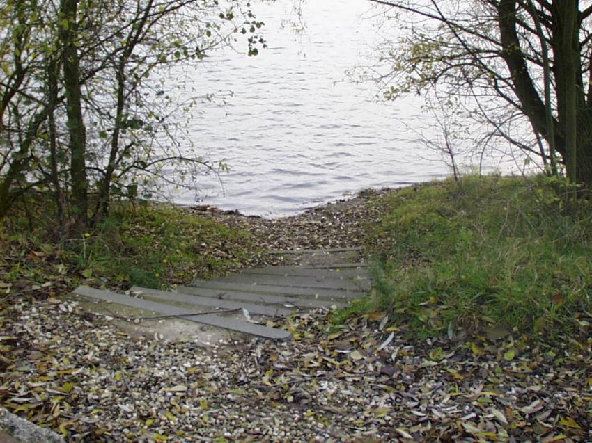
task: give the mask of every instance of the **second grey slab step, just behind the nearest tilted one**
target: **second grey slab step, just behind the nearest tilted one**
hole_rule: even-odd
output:
[[[247,309],[251,314],[265,315],[271,317],[288,316],[294,311],[285,307],[256,305],[244,301],[220,300],[219,298],[193,296],[188,293],[179,293],[173,291],[159,291],[158,289],[143,288],[139,286],[132,287],[133,293],[148,298],[157,298],[171,302],[191,303],[192,305],[217,307],[219,309]]]

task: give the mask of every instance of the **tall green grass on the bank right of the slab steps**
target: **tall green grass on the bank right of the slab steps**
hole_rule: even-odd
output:
[[[586,328],[592,207],[560,202],[545,179],[501,177],[376,200],[386,209],[367,239],[376,284],[358,310],[388,312],[422,337],[487,325],[547,336]]]

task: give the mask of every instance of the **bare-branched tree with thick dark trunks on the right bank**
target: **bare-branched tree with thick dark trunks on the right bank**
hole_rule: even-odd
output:
[[[371,1],[407,30],[384,45],[388,98],[445,90],[498,136],[551,165],[556,150],[570,182],[592,185],[590,1]],[[517,134],[525,123],[546,149]]]

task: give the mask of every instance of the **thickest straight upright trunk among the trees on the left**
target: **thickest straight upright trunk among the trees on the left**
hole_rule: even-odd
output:
[[[72,212],[76,228],[88,223],[88,182],[86,180],[86,129],[82,117],[79,56],[76,47],[78,0],[61,1],[60,39],[63,45],[63,86],[70,135],[70,177]]]

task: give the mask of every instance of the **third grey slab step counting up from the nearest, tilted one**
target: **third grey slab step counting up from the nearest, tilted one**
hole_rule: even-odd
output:
[[[197,296],[219,298],[220,300],[242,300],[249,303],[263,303],[265,305],[295,306],[305,309],[315,309],[319,307],[332,307],[332,305],[344,305],[343,298],[339,300],[313,300],[308,298],[299,298],[294,296],[279,296],[273,294],[239,292],[239,291],[221,291],[220,289],[205,289],[192,286],[179,286],[178,292],[194,294]]]

